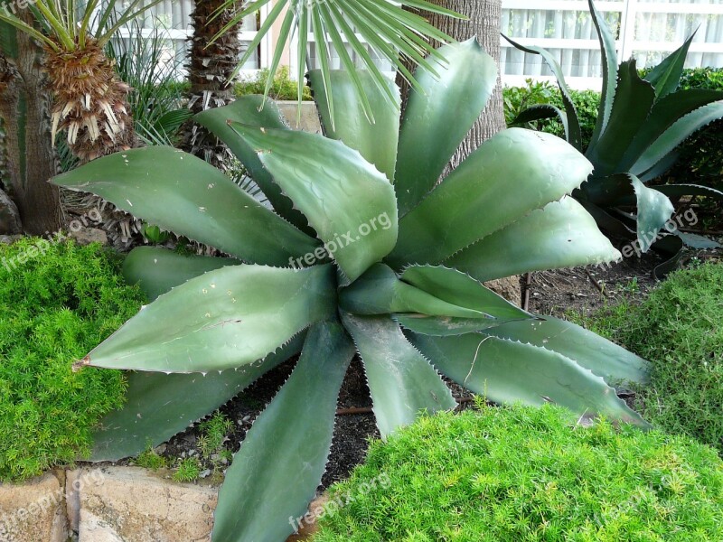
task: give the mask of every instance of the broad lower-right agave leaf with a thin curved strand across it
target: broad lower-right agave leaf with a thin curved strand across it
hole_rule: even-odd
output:
[[[550,402],[567,406],[578,416],[604,415],[648,426],[603,378],[558,352],[480,333],[412,334],[411,341],[447,377],[495,403]]]

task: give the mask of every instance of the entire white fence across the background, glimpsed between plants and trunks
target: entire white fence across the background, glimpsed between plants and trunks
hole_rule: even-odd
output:
[[[723,0],[611,0],[598,1],[596,6],[617,34],[621,59],[634,56],[640,67],[653,65],[698,29],[687,65],[723,67]],[[141,24],[149,32],[164,28],[169,53],[183,55],[192,32],[191,12],[192,0],[165,0],[146,14]],[[244,21],[242,42],[253,39],[258,23],[267,13],[265,8],[260,18],[251,16]],[[556,53],[570,86],[599,88],[599,43],[586,0],[502,0],[502,32],[522,44],[539,45]],[[311,34],[309,47],[314,65],[316,48]],[[272,50],[272,37],[267,36],[244,66],[243,75],[267,67]],[[296,73],[295,50],[292,43],[285,59],[292,67],[292,75]],[[338,59],[333,59],[332,65],[338,64]],[[379,65],[382,70],[390,70],[388,62],[380,61]],[[504,40],[501,68],[503,81],[510,85],[529,78],[552,79],[540,56],[518,51]]]

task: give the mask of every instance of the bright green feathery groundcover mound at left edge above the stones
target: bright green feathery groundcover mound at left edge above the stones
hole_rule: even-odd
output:
[[[120,371],[73,373],[143,302],[97,245],[0,245],[0,479],[89,453],[91,428],[123,402]]]

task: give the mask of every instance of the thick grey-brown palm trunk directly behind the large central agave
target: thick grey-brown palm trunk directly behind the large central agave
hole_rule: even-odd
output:
[[[455,38],[458,42],[477,38],[484,51],[500,64],[500,23],[502,19],[502,0],[431,0],[433,4],[442,5],[457,13],[465,14],[468,20],[462,21],[444,15],[423,12],[422,16],[439,30]],[[438,45],[438,44],[437,44]],[[402,89],[402,115],[409,93],[408,82],[399,77],[399,86]],[[504,109],[502,102],[502,79],[497,75],[497,86],[492,98],[487,103],[482,115],[475,121],[474,126],[465,140],[459,145],[455,155],[447,165],[446,173],[454,170],[465,161],[479,145],[505,128]],[[445,173],[445,174],[446,174]],[[490,281],[487,286],[501,294],[512,303],[521,305],[521,285],[518,276],[510,276]]]

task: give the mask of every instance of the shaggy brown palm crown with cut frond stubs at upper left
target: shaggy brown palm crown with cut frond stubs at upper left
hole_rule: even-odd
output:
[[[72,153],[83,162],[134,146],[127,104],[130,87],[117,79],[104,46],[124,24],[161,0],[132,0],[116,14],[116,2],[34,0],[28,5],[37,23],[23,21],[22,3],[7,2],[0,21],[42,42],[54,103],[52,141],[65,131]]]

